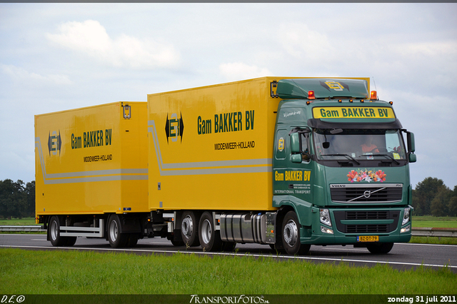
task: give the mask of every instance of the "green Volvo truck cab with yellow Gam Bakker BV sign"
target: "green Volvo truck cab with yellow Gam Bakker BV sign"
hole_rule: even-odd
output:
[[[273,207],[283,216],[276,248],[303,254],[311,244],[354,245],[388,253],[408,242],[414,136],[393,103],[368,93],[363,79],[283,79],[271,88],[283,99],[273,144]]]

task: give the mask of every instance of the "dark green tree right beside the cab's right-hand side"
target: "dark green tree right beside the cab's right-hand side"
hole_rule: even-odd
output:
[[[425,178],[417,184],[413,191],[413,207],[416,216],[426,216],[431,214],[431,201],[438,194],[438,189],[444,186],[441,179]]]

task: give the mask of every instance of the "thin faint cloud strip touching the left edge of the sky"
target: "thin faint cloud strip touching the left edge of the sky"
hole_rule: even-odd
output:
[[[31,73],[23,68],[14,65],[0,65],[0,70],[9,75],[15,81],[32,81],[34,83],[51,83],[51,84],[73,84],[69,77],[66,75],[41,75]]]

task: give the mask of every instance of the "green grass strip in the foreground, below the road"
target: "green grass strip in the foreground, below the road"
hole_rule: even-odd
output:
[[[4,294],[454,294],[451,270],[273,258],[0,250]]]

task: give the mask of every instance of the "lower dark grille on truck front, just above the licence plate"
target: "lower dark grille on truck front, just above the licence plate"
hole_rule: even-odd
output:
[[[342,233],[391,233],[398,227],[400,211],[333,211],[333,216],[335,216],[336,229]],[[383,220],[392,220],[392,223],[376,223]],[[359,223],[351,223],[351,221],[359,221]],[[360,223],[360,221],[368,223]]]

